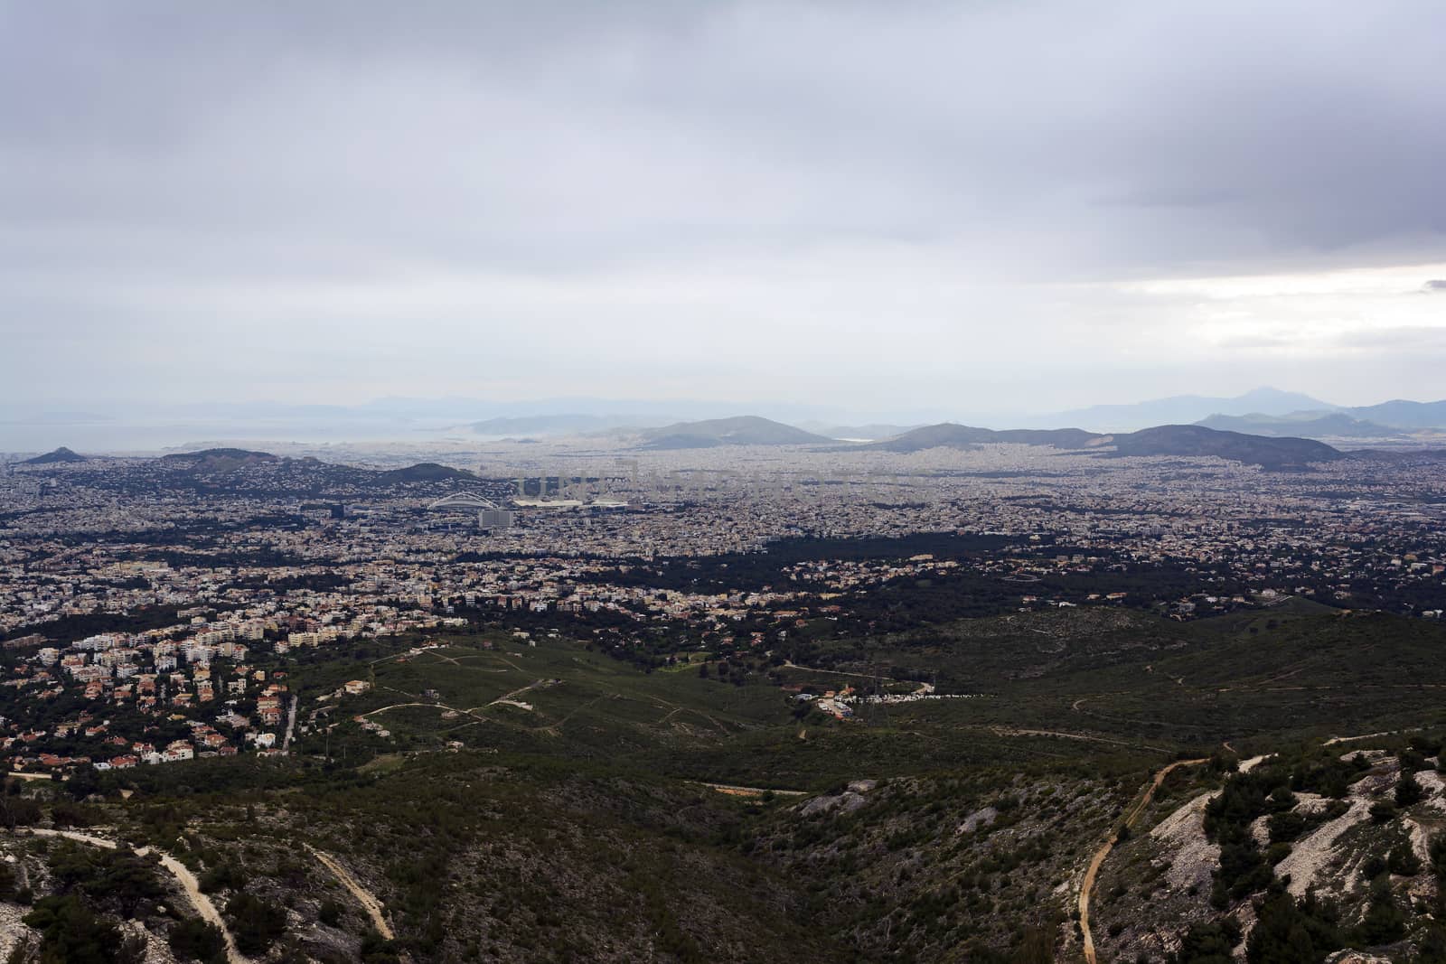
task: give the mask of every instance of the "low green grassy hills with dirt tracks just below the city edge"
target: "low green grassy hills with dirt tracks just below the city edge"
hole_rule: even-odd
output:
[[[693,665],[643,672],[565,637],[442,642],[369,665],[308,669],[305,705],[324,710],[298,750],[337,756],[340,749],[356,762],[461,744],[817,789],[985,765],[1089,760],[1145,769],[1223,744],[1245,752],[1436,723],[1446,695],[1442,627],[1309,606],[1197,623],[1129,610],[963,620],[824,643],[811,653],[821,665],[775,666],[746,685],[703,678]],[[314,701],[348,678],[375,681],[375,689]],[[855,720],[837,721],[804,714],[779,685],[821,694],[882,682],[908,692],[918,679],[966,698],[882,710],[856,704]],[[363,733],[354,717],[390,736]]]

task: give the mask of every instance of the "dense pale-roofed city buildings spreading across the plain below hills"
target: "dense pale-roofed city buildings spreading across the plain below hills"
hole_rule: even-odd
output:
[[[1427,619],[1446,608],[1446,478],[1424,457],[1267,473],[1018,445],[729,448],[623,465],[552,451],[565,465],[548,470],[526,447],[508,451],[476,483],[379,484],[314,460],[9,467],[3,754],[124,769],[281,752],[288,659],[479,614],[758,646],[891,584],[977,577],[1028,608],[1135,604],[1158,574],[1190,585],[1167,600],[1183,619],[1285,595]],[[458,490],[552,494],[516,483],[529,474],[568,481],[522,500],[509,528],[429,509]],[[976,548],[910,548],[930,533]],[[779,548],[850,539],[901,548],[803,561]],[[759,558],[778,558],[777,578],[732,578]],[[1061,590],[1070,578],[1092,588]]]

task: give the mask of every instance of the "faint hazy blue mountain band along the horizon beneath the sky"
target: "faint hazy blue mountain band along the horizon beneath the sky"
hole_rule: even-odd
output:
[[[101,410],[100,406],[90,406]],[[483,438],[558,438],[610,435],[642,438],[651,448],[726,444],[817,444],[821,439],[881,441],[937,423],[908,405],[846,413],[814,403],[759,402],[768,425],[735,425],[727,402],[552,397],[531,402],[484,399],[377,399],[363,405],[288,405],[278,402],[117,405],[106,416],[88,408],[36,409],[0,403],[0,451],[33,454],[65,441],[91,452],[156,451],[205,439],[467,441]],[[1008,431],[1056,431],[1069,425],[1095,434],[1135,432],[1158,425],[1203,425],[1270,438],[1327,442],[1379,439],[1388,447],[1433,442],[1446,434],[1446,400],[1395,399],[1340,406],[1299,392],[1261,387],[1245,395],[1178,395],[1131,405],[1095,405],[1054,415],[1006,416],[980,412],[954,416],[972,425]],[[698,421],[703,419],[703,421]],[[772,421],[781,419],[781,421]],[[701,428],[698,428],[701,426]],[[710,428],[711,426],[711,428]],[[719,428],[723,426],[723,428]],[[778,428],[782,426],[782,428]],[[954,439],[957,441],[957,439]],[[1028,442],[1030,436],[1005,441]],[[223,442],[224,444],[224,442]],[[1070,442],[1076,444],[1076,442]],[[1359,445],[1358,442],[1356,445]],[[1369,444],[1368,441],[1365,444]],[[48,452],[39,458],[81,458]],[[33,462],[46,464],[46,462]]]

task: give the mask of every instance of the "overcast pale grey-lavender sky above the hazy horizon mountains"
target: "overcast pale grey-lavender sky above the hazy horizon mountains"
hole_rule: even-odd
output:
[[[0,0],[0,400],[1437,399],[1443,119],[1436,0]]]

